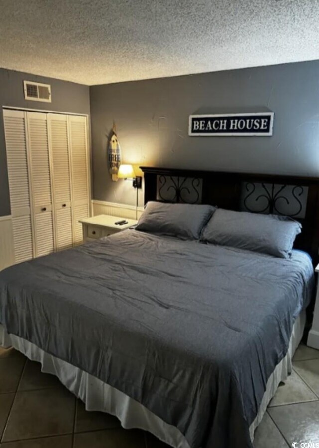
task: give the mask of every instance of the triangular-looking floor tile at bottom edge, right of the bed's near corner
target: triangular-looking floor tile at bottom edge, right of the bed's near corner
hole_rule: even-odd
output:
[[[288,448],[285,439],[266,412],[263,420],[255,431],[254,448],[269,447]]]

